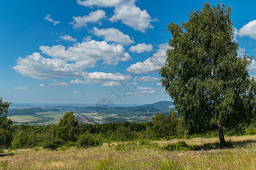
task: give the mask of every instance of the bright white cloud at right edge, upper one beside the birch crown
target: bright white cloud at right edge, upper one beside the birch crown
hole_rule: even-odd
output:
[[[249,36],[250,38],[256,40],[256,20],[252,20],[246,25],[243,25],[243,27],[237,32],[237,35],[240,37]]]

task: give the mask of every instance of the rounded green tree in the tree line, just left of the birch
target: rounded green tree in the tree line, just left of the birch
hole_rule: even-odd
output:
[[[167,141],[171,136],[177,135],[176,127],[178,124],[177,114],[173,109],[170,110],[168,116],[158,113],[152,117],[155,133],[158,137],[165,137]]]

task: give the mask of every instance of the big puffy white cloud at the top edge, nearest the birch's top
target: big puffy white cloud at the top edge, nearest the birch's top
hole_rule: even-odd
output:
[[[109,20],[112,22],[121,20],[123,24],[141,32],[153,28],[151,22],[154,21],[146,10],[141,10],[135,5],[134,0],[115,6],[114,15]]]

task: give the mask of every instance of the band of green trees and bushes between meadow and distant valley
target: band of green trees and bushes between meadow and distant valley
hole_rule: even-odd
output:
[[[0,146],[2,149],[43,147],[56,150],[60,146],[90,147],[101,145],[103,142],[170,140],[171,138],[188,138],[191,135],[217,136],[214,127],[206,128],[205,131],[189,131],[185,121],[177,118],[177,114],[172,109],[167,116],[157,113],[152,117],[151,122],[143,123],[81,124],[73,112],[67,112],[57,125],[11,125],[11,120],[7,118],[11,103],[3,102],[2,98],[0,101]],[[229,135],[256,134],[255,125],[254,121],[254,124],[249,127],[238,126],[237,129],[226,131],[230,133]]]

